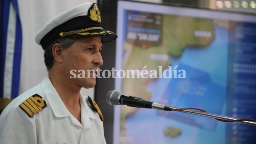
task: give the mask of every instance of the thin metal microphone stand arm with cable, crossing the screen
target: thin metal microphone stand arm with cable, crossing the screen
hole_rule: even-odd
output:
[[[199,116],[215,118],[215,119],[220,119],[220,120],[239,120],[238,118],[216,115],[216,114],[211,114],[208,112],[194,111],[194,110],[190,110],[190,109],[175,110],[175,109],[180,109],[180,108],[173,107],[173,106],[167,106],[167,105],[165,105],[165,107],[168,107],[174,111],[185,112],[185,113],[189,113],[189,114],[193,114],[193,115],[199,115]],[[158,109],[158,108],[156,108],[156,109]],[[236,121],[236,122],[256,126],[256,122],[253,122],[253,121]]]

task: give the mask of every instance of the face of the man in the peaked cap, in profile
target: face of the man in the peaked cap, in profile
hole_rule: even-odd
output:
[[[69,48],[63,52],[63,66],[67,78],[70,74],[70,70],[75,69],[76,75],[78,76],[78,70],[85,71],[85,78],[74,78],[70,79],[72,84],[78,87],[91,88],[96,84],[97,73],[90,72],[87,70],[95,70],[103,64],[101,57],[102,43],[100,37],[81,38],[76,40]],[[89,76],[88,76],[89,75]],[[94,77],[93,77],[94,76]],[[87,78],[90,77],[90,78]]]

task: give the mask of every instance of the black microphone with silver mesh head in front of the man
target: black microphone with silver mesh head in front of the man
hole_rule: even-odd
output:
[[[106,101],[110,105],[127,105],[132,107],[139,107],[139,108],[154,108],[160,110],[168,110],[171,111],[172,109],[158,103],[154,103],[153,101],[143,100],[141,98],[132,97],[132,96],[125,96],[116,90],[110,90],[107,92]]]

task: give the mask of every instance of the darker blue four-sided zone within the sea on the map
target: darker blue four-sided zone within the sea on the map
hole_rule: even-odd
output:
[[[208,109],[214,114],[220,114],[226,99],[225,87],[212,82],[209,73],[198,68],[180,64],[177,71],[180,69],[186,71],[186,79],[172,79],[169,82],[161,97],[162,101],[165,101],[163,104],[180,108],[198,107]],[[205,117],[182,112],[179,114],[169,112],[166,115],[165,112],[158,111],[157,114],[209,130],[215,130],[217,125],[216,120],[208,120]]]

